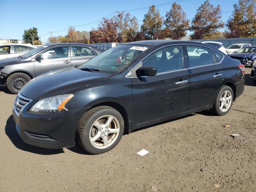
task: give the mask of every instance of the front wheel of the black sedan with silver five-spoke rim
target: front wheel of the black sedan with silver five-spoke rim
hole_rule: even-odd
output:
[[[124,134],[122,115],[110,106],[98,106],[85,112],[78,122],[76,139],[90,154],[112,150]]]

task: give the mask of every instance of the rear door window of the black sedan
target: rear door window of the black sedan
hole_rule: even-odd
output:
[[[190,67],[214,64],[213,55],[210,49],[198,46],[186,46]]]

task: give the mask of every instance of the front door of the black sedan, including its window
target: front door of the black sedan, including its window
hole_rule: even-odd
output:
[[[140,62],[132,71],[134,122],[136,125],[187,111],[189,74],[182,46],[162,48]],[[154,66],[156,76],[136,77],[140,66]]]

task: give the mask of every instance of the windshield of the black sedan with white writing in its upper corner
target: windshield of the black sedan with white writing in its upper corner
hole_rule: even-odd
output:
[[[150,50],[152,46],[119,45],[111,48],[79,67],[91,72],[121,72],[137,58]]]

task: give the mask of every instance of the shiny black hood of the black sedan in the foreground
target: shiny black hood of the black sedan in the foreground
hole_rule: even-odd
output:
[[[20,94],[30,99],[40,100],[105,82],[110,76],[111,74],[87,72],[74,67],[64,68],[32,79],[20,90]]]

